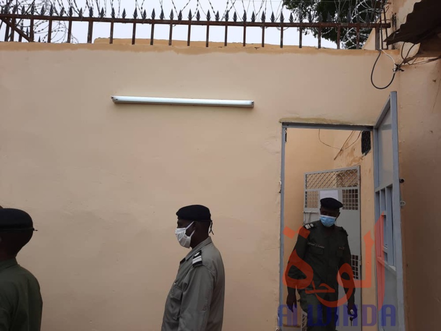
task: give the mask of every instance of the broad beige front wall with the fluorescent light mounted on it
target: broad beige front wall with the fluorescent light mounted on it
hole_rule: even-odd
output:
[[[280,121],[373,124],[388,94],[369,80],[376,55],[0,44],[0,201],[39,230],[19,262],[41,282],[43,329],[158,330],[187,253],[175,211],[190,203],[213,214],[225,329],[274,329]],[[380,61],[379,84],[389,68]],[[116,94],[255,107],[115,105]]]

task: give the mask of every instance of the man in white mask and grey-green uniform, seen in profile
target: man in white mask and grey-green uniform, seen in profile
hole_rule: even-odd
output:
[[[176,238],[192,250],[179,263],[165,303],[161,331],[220,331],[224,319],[224,263],[214,246],[210,210],[201,205],[180,208]]]

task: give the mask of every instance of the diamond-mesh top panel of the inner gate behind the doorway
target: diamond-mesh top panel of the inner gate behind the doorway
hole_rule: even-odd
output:
[[[305,188],[337,189],[358,186],[357,169],[315,172],[305,176]]]

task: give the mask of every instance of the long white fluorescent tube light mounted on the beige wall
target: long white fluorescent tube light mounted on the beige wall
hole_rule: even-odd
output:
[[[215,100],[215,99],[179,99],[179,98],[152,98],[138,96],[112,96],[115,103],[148,103],[148,104],[176,104],[191,106],[223,106],[223,107],[254,107],[252,100]]]

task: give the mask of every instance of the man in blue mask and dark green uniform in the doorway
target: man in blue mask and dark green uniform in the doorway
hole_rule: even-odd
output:
[[[339,300],[340,273],[351,318],[357,317],[354,305],[355,288],[351,268],[351,251],[345,229],[335,225],[343,204],[333,198],[320,200],[320,220],[304,225],[291,253],[287,268],[288,297],[286,304],[297,308],[296,288],[300,306],[308,314],[308,331],[335,331]]]

